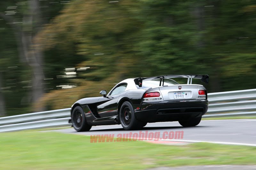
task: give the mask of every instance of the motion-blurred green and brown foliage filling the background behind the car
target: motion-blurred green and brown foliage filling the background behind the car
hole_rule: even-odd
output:
[[[19,12],[25,13],[27,1],[22,2]],[[44,74],[53,78],[48,85],[53,90],[46,90],[36,107],[68,107],[125,78],[163,74],[208,74],[208,92],[255,88],[255,1],[73,0],[63,9],[55,5],[42,8],[48,24],[34,40],[44,49]],[[10,63],[17,55],[15,37],[10,28],[0,33],[12,44],[3,52],[8,61],[0,62]],[[56,79],[70,67],[90,69],[77,71],[76,78]],[[27,68],[20,70],[30,76]],[[55,90],[74,82],[73,89]],[[94,84],[96,89],[89,87]]]

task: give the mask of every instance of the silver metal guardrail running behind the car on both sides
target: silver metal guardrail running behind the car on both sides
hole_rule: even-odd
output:
[[[256,115],[256,89],[208,93],[203,117]],[[70,108],[0,118],[0,132],[70,126]]]

